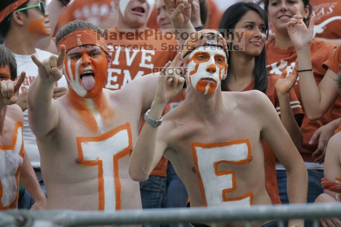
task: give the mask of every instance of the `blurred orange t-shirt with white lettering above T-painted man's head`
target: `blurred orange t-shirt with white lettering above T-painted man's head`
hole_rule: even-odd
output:
[[[80,19],[94,23],[96,25],[110,18],[112,0],[74,0],[68,7],[65,7],[61,13],[56,27],[56,33],[65,24],[70,21]]]

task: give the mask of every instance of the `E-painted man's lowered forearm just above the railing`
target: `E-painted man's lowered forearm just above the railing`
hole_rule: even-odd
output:
[[[301,158],[294,168],[286,169],[287,194],[289,203],[306,203],[308,192],[308,172]]]

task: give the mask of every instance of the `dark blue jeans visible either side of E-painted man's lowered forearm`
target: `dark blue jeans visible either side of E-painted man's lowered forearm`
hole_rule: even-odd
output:
[[[281,202],[283,204],[289,203],[288,195],[286,193],[286,171],[277,170],[277,182],[280,192]],[[323,177],[323,170],[308,170],[308,203],[314,203],[315,199],[323,193],[321,186],[321,179]],[[305,222],[305,227],[312,227],[311,221]]]

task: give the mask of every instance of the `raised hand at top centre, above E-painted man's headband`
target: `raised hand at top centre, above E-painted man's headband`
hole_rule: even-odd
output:
[[[174,24],[183,24],[190,20],[193,0],[164,0],[170,20]]]

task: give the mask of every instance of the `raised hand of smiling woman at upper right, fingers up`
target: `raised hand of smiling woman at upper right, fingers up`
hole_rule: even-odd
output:
[[[310,18],[309,27],[307,27],[303,22],[303,16],[297,5],[295,5],[295,8],[296,13],[294,17],[286,23],[286,28],[296,51],[298,51],[307,47],[310,48],[310,43],[314,34],[315,16]]]

